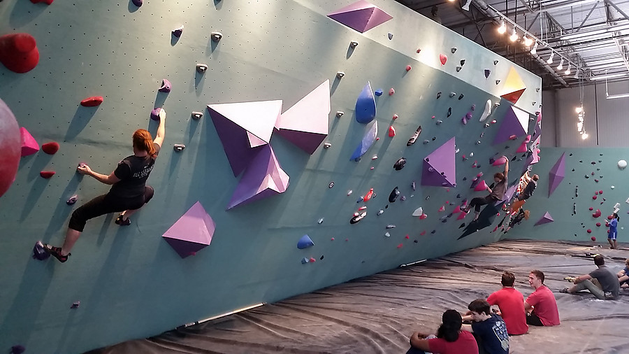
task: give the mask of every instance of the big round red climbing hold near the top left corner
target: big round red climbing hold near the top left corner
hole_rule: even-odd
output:
[[[26,73],[39,62],[35,38],[27,33],[0,36],[0,62],[10,71]]]

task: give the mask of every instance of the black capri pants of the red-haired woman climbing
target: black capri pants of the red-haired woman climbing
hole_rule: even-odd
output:
[[[68,227],[78,232],[83,232],[87,220],[108,213],[139,209],[151,200],[154,193],[153,187],[147,185],[144,187],[144,194],[133,199],[124,199],[110,194],[99,195],[72,213]]]

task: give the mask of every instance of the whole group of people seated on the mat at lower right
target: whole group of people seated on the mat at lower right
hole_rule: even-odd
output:
[[[629,288],[629,259],[625,269],[616,276],[605,267],[601,255],[594,257],[598,269],[590,274],[573,278],[574,286],[560,292],[575,293],[589,290],[598,299],[616,299],[619,288]],[[468,312],[461,315],[447,310],[437,335],[414,332],[407,354],[496,354],[509,353],[509,336],[526,334],[528,326],[559,325],[559,311],[553,292],[544,285],[544,273],[530,271],[528,283],[535,291],[526,300],[514,288],[515,275],[505,271],[500,281],[503,288],[487,299],[470,302]],[[491,310],[496,305],[500,311]],[[468,324],[469,323],[469,324]]]

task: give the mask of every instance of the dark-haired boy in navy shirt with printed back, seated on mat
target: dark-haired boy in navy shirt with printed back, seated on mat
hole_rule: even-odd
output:
[[[508,354],[507,325],[500,315],[491,313],[490,308],[491,305],[485,299],[475,299],[470,302],[468,306],[470,315],[464,316],[463,320],[472,320],[472,324],[463,324],[461,328],[474,335],[479,353]]]

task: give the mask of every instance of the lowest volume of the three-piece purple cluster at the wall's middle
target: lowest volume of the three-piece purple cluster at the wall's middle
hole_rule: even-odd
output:
[[[289,175],[280,167],[270,145],[261,146],[261,151],[254,157],[236,190],[231,196],[227,209],[250,203],[266,197],[286,192]]]

